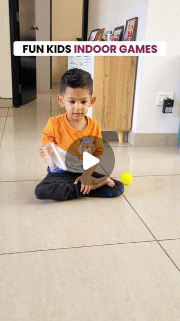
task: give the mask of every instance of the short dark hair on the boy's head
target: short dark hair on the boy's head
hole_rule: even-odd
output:
[[[92,96],[93,81],[90,73],[78,68],[65,71],[60,78],[60,94],[63,94],[67,87],[85,88],[89,91],[90,96]]]

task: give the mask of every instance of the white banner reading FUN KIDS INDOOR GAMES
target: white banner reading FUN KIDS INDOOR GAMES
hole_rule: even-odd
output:
[[[14,56],[165,56],[165,41],[15,41]]]

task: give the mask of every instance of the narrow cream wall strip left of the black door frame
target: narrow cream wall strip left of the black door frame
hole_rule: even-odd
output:
[[[8,0],[0,1],[0,97],[12,98]]]

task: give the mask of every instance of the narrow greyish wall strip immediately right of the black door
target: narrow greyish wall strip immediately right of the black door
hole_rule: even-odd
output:
[[[50,41],[50,0],[35,1],[36,41]],[[50,57],[36,57],[36,89],[38,93],[50,90]]]

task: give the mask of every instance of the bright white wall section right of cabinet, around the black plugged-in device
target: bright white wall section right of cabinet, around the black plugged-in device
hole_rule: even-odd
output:
[[[132,131],[137,133],[176,133],[180,102],[180,2],[150,0],[145,40],[167,42],[164,57],[143,57],[138,108],[134,110]],[[156,106],[158,91],[174,92],[172,114]],[[137,106],[136,106],[137,107]]]

